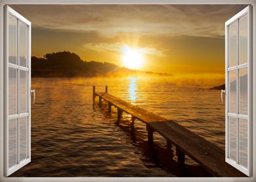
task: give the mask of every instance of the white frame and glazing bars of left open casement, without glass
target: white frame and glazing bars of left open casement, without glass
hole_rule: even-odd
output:
[[[27,25],[27,38],[28,40],[31,40],[31,23],[29,21],[27,21],[27,19],[25,19],[23,16],[21,16],[20,14],[18,14],[17,12],[15,12],[14,10],[12,10],[12,8],[10,8],[9,6],[5,6],[5,12],[11,16],[13,16],[14,18],[19,20],[18,23],[18,27],[17,27],[17,32],[20,30],[20,23],[24,23],[24,25]],[[5,51],[8,53],[8,17],[5,16],[5,31],[4,31],[4,35],[5,35]],[[20,47],[19,42],[20,42],[20,33],[17,33],[17,48]],[[5,176],[12,174],[13,172],[16,172],[16,170],[22,168],[23,166],[25,166],[26,164],[28,164],[31,161],[31,97],[30,97],[30,85],[31,85],[31,41],[27,42],[27,66],[20,66],[20,52],[17,50],[17,64],[12,64],[8,61],[8,55],[5,54],[5,60],[7,60],[7,62],[5,62],[5,70],[7,72],[8,75],[8,68],[14,68],[19,70],[17,73],[19,73],[20,71],[25,71],[27,72],[27,112],[26,113],[18,113],[18,114],[13,114],[13,115],[9,115],[8,114],[8,107],[7,109],[5,109],[4,111],[4,118],[5,121],[8,123],[10,119],[12,118],[16,118],[18,120],[18,123],[20,122],[20,118],[22,117],[27,117],[27,158],[24,159],[23,161],[20,161],[20,148],[18,146],[18,153],[16,153],[17,155],[17,160],[18,160],[18,164],[12,166],[11,168],[8,168],[8,124],[5,125],[5,164],[7,164],[7,166],[5,166]],[[5,85],[7,85],[8,83],[8,76],[5,77]],[[18,75],[18,90],[20,90],[20,75]],[[8,105],[8,86],[5,87],[5,93],[6,96],[4,98],[5,101],[5,105]],[[20,98],[20,94],[17,93],[17,99]],[[18,101],[19,102],[19,101]],[[19,106],[18,106],[19,108]],[[18,109],[20,112],[20,109]],[[17,125],[16,128],[16,132],[17,135],[20,135],[20,129],[19,129],[19,124]],[[19,136],[20,137],[20,136]],[[19,144],[19,140],[18,140],[18,144]]]

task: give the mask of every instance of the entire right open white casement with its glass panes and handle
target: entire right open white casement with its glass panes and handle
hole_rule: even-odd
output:
[[[226,162],[252,174],[252,6],[225,23]]]

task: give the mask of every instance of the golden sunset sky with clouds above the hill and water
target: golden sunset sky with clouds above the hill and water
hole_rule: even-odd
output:
[[[12,5],[32,23],[32,55],[71,51],[123,65],[140,50],[139,70],[225,77],[225,21],[244,5]]]

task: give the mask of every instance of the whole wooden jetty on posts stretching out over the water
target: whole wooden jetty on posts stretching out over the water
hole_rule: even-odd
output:
[[[105,92],[96,92],[95,86],[93,86],[93,103],[95,103],[96,97],[99,97],[100,105],[103,100],[107,101],[109,113],[112,111],[112,106],[117,108],[118,122],[121,120],[122,113],[127,112],[131,114],[131,124],[135,120],[146,123],[148,142],[153,142],[153,132],[162,135],[167,140],[168,146],[174,145],[176,147],[176,156],[180,166],[184,166],[185,155],[188,155],[216,177],[246,177],[242,172],[225,162],[223,149],[189,131],[174,120],[167,120],[167,118],[108,94],[108,86],[106,86]]]

